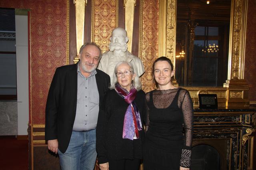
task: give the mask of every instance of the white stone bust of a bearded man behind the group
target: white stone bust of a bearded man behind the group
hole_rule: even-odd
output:
[[[127,50],[127,32],[121,27],[116,27],[110,37],[109,51],[102,55],[98,69],[106,72],[113,82],[114,68],[120,61],[128,61],[132,64],[134,72],[140,77],[144,72],[144,66],[139,57],[132,55]]]

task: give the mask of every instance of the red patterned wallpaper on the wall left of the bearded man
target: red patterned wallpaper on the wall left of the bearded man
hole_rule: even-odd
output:
[[[67,62],[67,0],[1,0],[0,7],[30,9],[30,114],[32,124],[44,124],[53,74]]]

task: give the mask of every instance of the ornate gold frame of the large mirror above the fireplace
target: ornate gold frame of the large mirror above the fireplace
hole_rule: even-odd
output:
[[[159,41],[159,49],[166,47],[165,51],[159,51],[159,56],[167,56],[174,63],[174,66],[176,47],[176,4],[176,0],[167,0],[167,2],[166,0],[159,1],[159,23],[166,23],[165,27],[159,24],[161,25],[159,26],[159,30],[161,30],[159,39],[165,40]],[[163,7],[164,5],[167,5],[167,12]],[[194,106],[198,106],[198,94],[200,93],[217,94],[219,100],[218,105],[221,107],[249,106],[249,86],[244,80],[247,5],[248,0],[231,0],[228,80],[223,84],[223,87],[184,87],[189,90]]]

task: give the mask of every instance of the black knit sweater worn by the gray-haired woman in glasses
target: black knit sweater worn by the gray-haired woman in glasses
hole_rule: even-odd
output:
[[[139,131],[140,139],[123,139],[124,115],[128,104],[113,89],[106,94],[103,110],[98,116],[96,128],[96,150],[100,164],[108,160],[142,159],[142,140],[144,138],[143,117],[145,110],[145,93],[140,90],[134,99],[139,111],[143,129]]]

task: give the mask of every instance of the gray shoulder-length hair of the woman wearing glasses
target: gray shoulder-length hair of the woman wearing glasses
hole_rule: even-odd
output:
[[[117,68],[118,66],[120,66],[121,64],[128,64],[130,66],[130,71],[133,72],[134,74],[134,68],[132,66],[131,63],[127,62],[127,61],[121,61],[119,63],[116,64],[115,69],[114,69],[114,74],[113,74],[113,82],[110,85],[110,89],[115,89],[116,88],[116,84],[118,83],[117,77],[116,77],[116,72],[117,72]],[[140,78],[138,76],[138,74],[136,73],[134,76],[134,80],[132,80],[132,86],[137,90],[141,90],[142,88],[142,84],[140,81]]]

